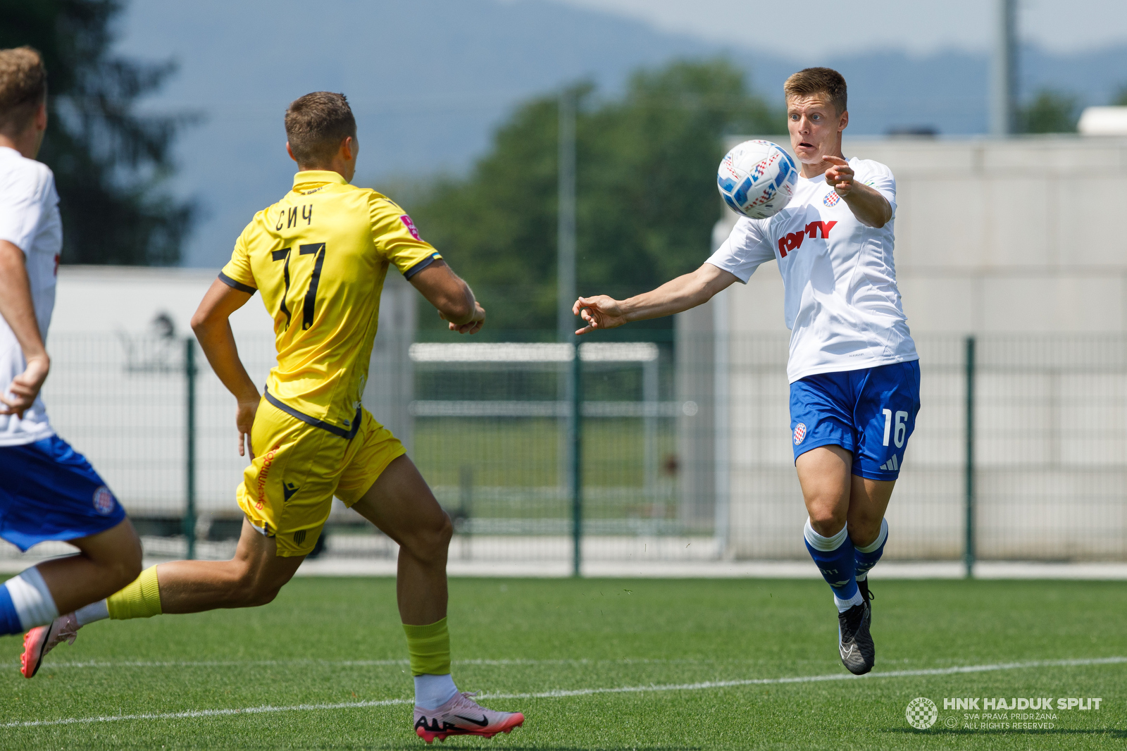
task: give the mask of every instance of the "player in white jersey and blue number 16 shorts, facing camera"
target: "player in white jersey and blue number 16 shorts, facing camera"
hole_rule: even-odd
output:
[[[838,652],[857,674],[872,670],[869,569],[888,539],[885,510],[920,409],[920,368],[893,263],[896,182],[876,161],[842,153],[845,79],[808,68],[783,86],[795,156],[795,196],[770,219],[742,218],[695,272],[613,300],[579,298],[586,327],[613,328],[707,302],[779,263],[791,330],[791,436],[809,519],[807,550],[834,592]]]

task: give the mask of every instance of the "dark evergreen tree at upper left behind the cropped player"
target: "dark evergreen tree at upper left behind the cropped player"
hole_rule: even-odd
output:
[[[47,133],[39,159],[55,173],[63,263],[175,264],[195,213],[162,191],[186,115],[139,115],[171,62],[110,54],[118,0],[0,0],[0,47],[28,44],[47,68]]]

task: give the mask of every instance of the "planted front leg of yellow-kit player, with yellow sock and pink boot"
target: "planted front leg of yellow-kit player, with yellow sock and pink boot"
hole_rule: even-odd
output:
[[[397,457],[352,506],[399,544],[396,597],[415,677],[415,732],[427,743],[450,735],[492,737],[524,723],[458,691],[450,674],[446,550],[453,527],[418,469]]]

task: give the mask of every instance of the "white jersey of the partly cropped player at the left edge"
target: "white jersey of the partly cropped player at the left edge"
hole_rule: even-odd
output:
[[[27,277],[39,335],[47,338],[55,307],[55,275],[63,248],[59,194],[51,169],[25,159],[15,149],[0,147],[0,240],[24,251]],[[11,380],[24,372],[27,361],[8,323],[0,317],[0,388],[8,392]],[[0,415],[0,447],[32,443],[54,434],[43,398],[37,397],[20,419]]]

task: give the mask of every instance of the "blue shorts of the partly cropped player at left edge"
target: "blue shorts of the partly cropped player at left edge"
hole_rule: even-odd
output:
[[[57,435],[0,447],[0,537],[20,550],[105,532],[123,519],[90,462]]]

